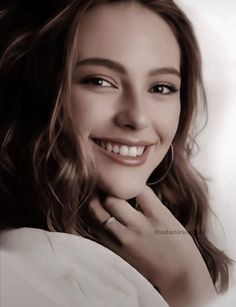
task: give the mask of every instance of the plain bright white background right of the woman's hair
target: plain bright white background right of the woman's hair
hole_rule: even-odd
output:
[[[200,152],[194,164],[209,178],[211,207],[221,223],[212,217],[211,237],[236,260],[236,1],[177,3],[199,39],[208,98],[208,124],[197,138]],[[234,287],[235,273],[234,267]]]

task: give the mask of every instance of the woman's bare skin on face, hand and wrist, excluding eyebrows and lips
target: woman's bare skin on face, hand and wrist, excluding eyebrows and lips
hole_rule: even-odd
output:
[[[79,64],[94,57],[119,62],[127,72]],[[215,290],[200,252],[183,226],[146,186],[149,175],[168,151],[179,121],[180,78],[173,73],[149,75],[151,70],[163,67],[179,71],[180,50],[160,17],[137,4],[95,7],[79,30],[72,84],[74,125],[87,150],[94,154],[98,187],[105,192],[103,199],[95,193],[89,204],[101,244],[157,286],[170,306],[204,306],[215,296]],[[105,81],[96,85],[83,81],[94,75]],[[154,93],[153,85],[163,83],[177,91],[170,95]],[[165,86],[163,89],[165,93]],[[97,151],[91,137],[145,140],[153,145],[143,165],[130,167]],[[140,211],[125,200],[135,196]],[[115,219],[104,223],[111,216]],[[166,229],[183,233],[158,234]]]

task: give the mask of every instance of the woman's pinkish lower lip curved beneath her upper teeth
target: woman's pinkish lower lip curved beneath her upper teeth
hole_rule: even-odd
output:
[[[94,144],[94,146],[96,147],[97,150],[99,150],[99,152],[101,152],[102,154],[104,154],[105,156],[107,156],[109,159],[121,164],[121,165],[125,165],[125,166],[140,166],[143,165],[145,163],[145,161],[147,160],[147,156],[148,153],[150,151],[151,145],[146,146],[143,154],[141,156],[137,156],[137,157],[131,157],[131,156],[121,156],[119,154],[115,154],[113,152],[110,152],[104,148],[102,148],[101,146],[97,145],[95,142],[92,141],[92,143]]]

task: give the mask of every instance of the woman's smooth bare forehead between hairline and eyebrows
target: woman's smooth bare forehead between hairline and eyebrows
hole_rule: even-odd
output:
[[[98,5],[83,16],[77,35],[79,57],[108,58],[128,67],[180,66],[171,28],[140,4]]]

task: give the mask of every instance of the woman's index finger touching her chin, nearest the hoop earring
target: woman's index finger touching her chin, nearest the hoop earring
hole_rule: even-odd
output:
[[[143,191],[136,197],[138,205],[147,217],[157,217],[165,210],[165,206],[153,192],[153,190],[145,186]]]

